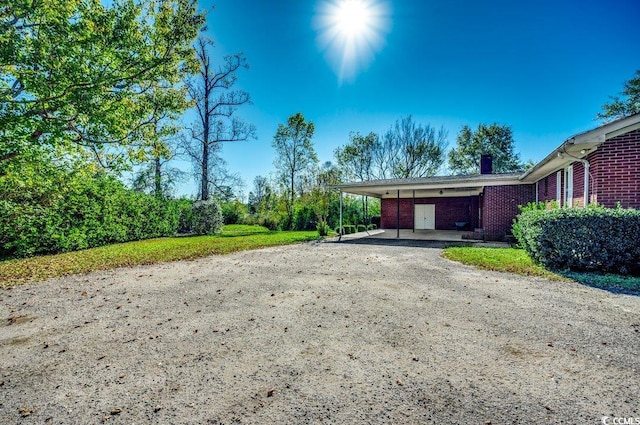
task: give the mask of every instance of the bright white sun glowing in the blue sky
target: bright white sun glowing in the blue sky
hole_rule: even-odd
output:
[[[340,83],[352,80],[373,61],[389,27],[383,0],[325,0],[314,23],[318,43]]]

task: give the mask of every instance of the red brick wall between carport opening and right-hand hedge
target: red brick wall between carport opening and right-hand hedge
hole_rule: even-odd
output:
[[[482,201],[485,239],[504,240],[520,212],[518,205],[535,200],[535,184],[485,187]]]

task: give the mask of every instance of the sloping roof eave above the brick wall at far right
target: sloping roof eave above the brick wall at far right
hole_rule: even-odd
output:
[[[640,128],[640,113],[601,125],[569,137],[520,179],[535,183],[541,178],[585,158],[605,141]]]

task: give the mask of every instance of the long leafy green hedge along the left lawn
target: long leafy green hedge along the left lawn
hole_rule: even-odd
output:
[[[0,178],[0,258],[173,235],[186,209],[182,201],[134,192],[104,173],[38,171],[25,167]]]

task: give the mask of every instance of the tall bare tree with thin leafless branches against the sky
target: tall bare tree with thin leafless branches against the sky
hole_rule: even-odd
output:
[[[215,172],[215,161],[219,162],[222,143],[246,141],[255,138],[256,133],[252,124],[234,116],[239,106],[251,103],[249,93],[233,89],[237,71],[249,67],[244,55],[227,55],[224,63],[215,68],[209,53],[211,46],[211,40],[198,38],[196,55],[200,69],[186,82],[198,120],[190,128],[190,140],[185,147],[198,173],[201,200],[209,199],[215,186],[225,186],[215,181],[220,178],[220,173]]]

